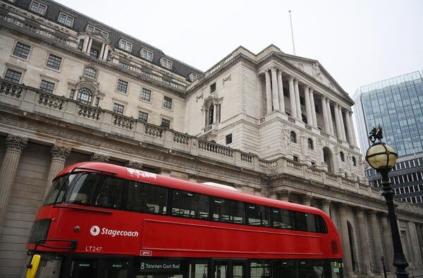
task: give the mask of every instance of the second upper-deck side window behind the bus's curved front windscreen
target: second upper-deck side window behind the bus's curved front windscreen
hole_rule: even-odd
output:
[[[166,214],[167,188],[129,181],[125,210]]]

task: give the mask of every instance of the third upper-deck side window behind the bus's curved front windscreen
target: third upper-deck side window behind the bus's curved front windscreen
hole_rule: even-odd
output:
[[[173,190],[172,215],[209,219],[209,196]]]

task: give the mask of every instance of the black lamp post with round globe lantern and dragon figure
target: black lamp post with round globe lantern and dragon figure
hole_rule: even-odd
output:
[[[384,192],[382,195],[385,197],[386,206],[388,207],[388,219],[391,224],[391,234],[393,243],[393,266],[396,267],[396,277],[408,277],[408,273],[405,268],[408,266],[407,260],[405,260],[403,246],[401,245],[400,232],[398,229],[398,223],[396,219],[395,206],[393,204],[393,193],[391,188],[391,182],[388,178],[388,173],[396,164],[398,154],[393,150],[392,147],[383,143],[381,139],[384,138],[382,135],[382,128],[378,126],[373,128],[369,135],[372,145],[367,149],[366,161],[369,165],[375,169],[382,176],[382,189]],[[379,140],[376,142],[376,140]]]

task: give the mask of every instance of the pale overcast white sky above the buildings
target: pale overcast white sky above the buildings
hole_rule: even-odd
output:
[[[317,59],[353,95],[357,87],[423,69],[423,1],[58,0],[207,71],[236,47],[275,44]]]

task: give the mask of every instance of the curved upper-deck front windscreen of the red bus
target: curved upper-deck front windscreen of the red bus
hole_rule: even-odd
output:
[[[55,203],[90,204],[102,175],[85,172],[61,176],[54,181],[44,205]]]

